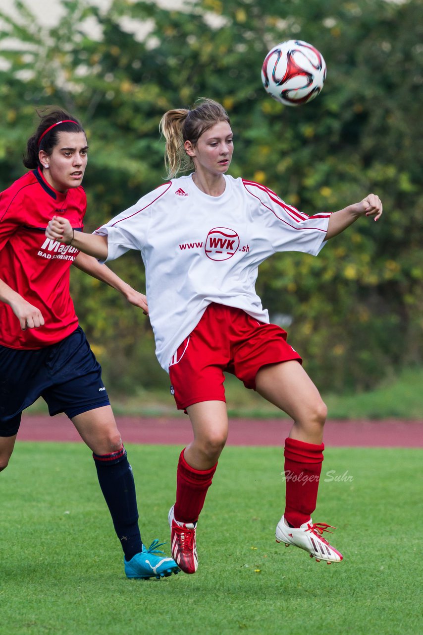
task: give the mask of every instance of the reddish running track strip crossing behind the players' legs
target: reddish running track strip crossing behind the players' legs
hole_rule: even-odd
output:
[[[192,439],[188,417],[117,417],[124,443],[185,446]],[[283,446],[287,419],[238,419],[229,424],[227,445]],[[81,441],[65,415],[23,415],[19,441]],[[423,421],[334,421],[325,425],[327,447],[423,448]]]

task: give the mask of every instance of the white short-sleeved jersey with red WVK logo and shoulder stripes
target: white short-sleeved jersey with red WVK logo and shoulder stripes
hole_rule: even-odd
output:
[[[204,194],[192,175],[175,178],[96,231],[108,236],[107,260],[141,251],[156,355],[167,371],[211,302],[268,323],[255,290],[259,264],[277,251],[317,255],[325,240],[329,213],[309,217],[264,185],[223,176],[221,196]]]

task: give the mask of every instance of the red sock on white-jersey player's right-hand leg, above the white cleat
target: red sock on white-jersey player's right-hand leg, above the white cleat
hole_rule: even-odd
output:
[[[316,509],[325,446],[285,439],[285,520],[293,527],[307,523]]]

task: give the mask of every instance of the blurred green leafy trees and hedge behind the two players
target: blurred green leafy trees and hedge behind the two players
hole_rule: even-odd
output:
[[[49,28],[16,8],[16,20],[0,14],[1,189],[22,173],[34,107],[63,105],[89,137],[91,231],[166,177],[163,112],[214,98],[235,132],[233,176],[263,182],[306,213],[370,191],[384,202],[379,224],[357,222],[318,258],[275,255],[261,267],[263,304],[290,323],[316,384],[365,389],[422,362],[419,0],[193,0],[183,10],[113,0],[107,11],[62,0],[63,18]],[[297,108],[271,100],[260,78],[267,51],[292,37],[313,43],[328,67],[321,95]],[[139,255],[112,268],[143,289]],[[145,317],[78,271],[72,290],[108,384],[166,385]]]

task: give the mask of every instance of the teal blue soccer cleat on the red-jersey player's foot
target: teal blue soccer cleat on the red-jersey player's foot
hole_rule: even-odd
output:
[[[179,566],[172,558],[162,558],[157,554],[164,556],[163,551],[159,551],[159,547],[164,545],[164,542],[153,540],[148,549],[143,545],[143,550],[139,554],[135,554],[129,562],[124,558],[125,573],[127,578],[133,578],[136,580],[150,580],[151,578],[165,578],[172,573],[179,573]]]

